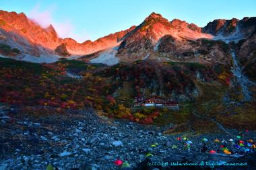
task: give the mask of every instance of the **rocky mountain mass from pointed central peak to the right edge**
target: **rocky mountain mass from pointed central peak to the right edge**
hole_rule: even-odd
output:
[[[152,13],[124,38],[116,56],[125,62],[158,59],[232,65],[228,42],[253,42],[254,30],[255,17],[216,19],[199,28],[179,19],[168,22],[162,15]],[[97,54],[92,56],[95,58]]]

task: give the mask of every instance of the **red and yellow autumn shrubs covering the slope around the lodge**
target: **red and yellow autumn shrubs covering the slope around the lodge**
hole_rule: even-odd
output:
[[[70,70],[82,79],[68,77]],[[232,77],[229,72],[217,73],[212,67],[195,63],[136,61],[131,65],[104,68],[74,60],[40,65],[0,58],[0,102],[39,105],[57,112],[93,107],[110,118],[152,124],[166,111],[156,108],[131,110],[133,97],[160,91],[166,96],[172,92],[187,95],[188,90],[195,88],[197,73],[203,81],[217,80],[226,85]]]

